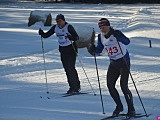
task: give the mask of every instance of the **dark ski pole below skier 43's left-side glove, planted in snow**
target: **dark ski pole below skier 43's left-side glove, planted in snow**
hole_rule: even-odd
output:
[[[104,112],[104,105],[103,105],[103,98],[102,98],[102,91],[101,91],[101,85],[100,85],[100,80],[99,80],[98,67],[97,67],[97,60],[96,60],[96,55],[95,55],[95,53],[94,53],[94,60],[95,60],[95,65],[96,65],[96,72],[97,72],[99,92],[100,92],[100,98],[101,98],[101,104],[102,104],[102,111],[103,111],[103,114],[105,114],[105,112]]]

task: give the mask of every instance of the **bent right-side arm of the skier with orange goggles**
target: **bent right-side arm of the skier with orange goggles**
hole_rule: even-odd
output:
[[[79,36],[72,25],[68,26],[68,32],[71,34],[67,36],[70,40],[77,41],[79,39]]]

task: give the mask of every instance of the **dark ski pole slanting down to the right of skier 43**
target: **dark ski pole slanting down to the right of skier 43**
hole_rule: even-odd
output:
[[[123,54],[123,51],[122,51],[122,48],[121,48],[118,40],[117,40],[117,43],[118,43],[118,46],[119,46],[119,48],[120,48],[121,54],[124,55],[124,54]],[[126,59],[125,59],[124,57],[123,57],[123,60],[124,60],[124,62],[125,62],[125,64],[126,64],[126,66],[127,66],[127,70],[128,70],[128,72],[129,72],[129,75],[130,75],[130,77],[131,77],[131,80],[132,80],[132,82],[133,82],[133,85],[134,85],[134,87],[135,87],[135,90],[136,90],[137,95],[138,95],[138,97],[139,97],[139,100],[140,100],[140,103],[141,103],[141,105],[142,105],[142,108],[143,108],[143,110],[144,110],[144,112],[145,112],[145,115],[146,115],[146,117],[148,117],[148,114],[147,114],[147,112],[146,112],[146,110],[145,110],[145,108],[144,108],[142,99],[141,99],[141,97],[140,97],[140,94],[139,94],[139,92],[138,92],[138,89],[137,89],[137,87],[136,87],[136,84],[135,84],[135,82],[134,82],[134,80],[133,80],[132,74],[131,74],[131,72],[130,72],[130,70],[129,70],[129,68],[128,68]]]

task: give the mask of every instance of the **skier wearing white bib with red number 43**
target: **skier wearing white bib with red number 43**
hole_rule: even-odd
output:
[[[123,111],[123,105],[119,93],[115,88],[117,79],[120,77],[120,86],[128,105],[128,116],[135,116],[132,93],[128,88],[128,77],[130,70],[130,57],[125,47],[130,40],[119,30],[114,30],[106,18],[101,18],[98,22],[101,33],[98,35],[97,46],[90,46],[89,52],[97,55],[106,49],[110,58],[110,65],[107,72],[107,87],[109,93],[116,103],[113,116],[118,116]]]

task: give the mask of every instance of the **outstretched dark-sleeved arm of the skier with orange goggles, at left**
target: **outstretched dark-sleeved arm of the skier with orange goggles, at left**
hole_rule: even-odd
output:
[[[48,38],[48,37],[50,37],[51,35],[53,35],[53,34],[55,33],[55,32],[54,32],[55,26],[56,26],[56,25],[52,26],[51,29],[48,30],[46,33],[44,33],[43,30],[40,29],[40,30],[39,30],[39,35],[41,35],[43,38]]]

